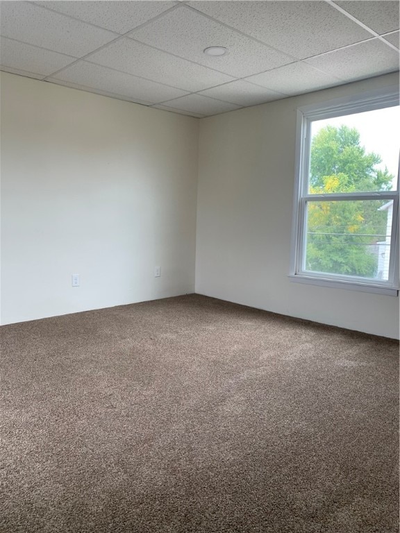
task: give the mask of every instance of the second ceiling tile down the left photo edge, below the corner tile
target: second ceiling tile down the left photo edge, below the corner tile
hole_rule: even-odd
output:
[[[62,69],[76,61],[71,56],[64,56],[62,53],[52,52],[38,48],[38,46],[31,46],[31,44],[24,44],[19,41],[7,39],[7,37],[0,38],[0,62],[1,65],[12,67],[28,72],[35,72],[36,74],[47,76],[52,72]]]

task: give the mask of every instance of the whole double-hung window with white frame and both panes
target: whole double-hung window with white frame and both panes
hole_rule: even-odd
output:
[[[399,92],[298,110],[294,281],[397,296]]]

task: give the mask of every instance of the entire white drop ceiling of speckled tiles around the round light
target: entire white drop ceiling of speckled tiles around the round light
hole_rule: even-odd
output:
[[[0,16],[1,70],[192,117],[399,70],[391,0],[3,0]]]

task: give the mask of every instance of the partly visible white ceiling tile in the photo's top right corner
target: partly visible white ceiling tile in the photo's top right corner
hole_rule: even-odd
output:
[[[376,33],[387,33],[399,29],[398,1],[345,0],[335,1],[335,3]]]

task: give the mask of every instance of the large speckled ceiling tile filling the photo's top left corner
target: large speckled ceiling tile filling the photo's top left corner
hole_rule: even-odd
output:
[[[1,2],[0,28],[3,37],[77,58],[117,37],[116,33],[22,1]]]

